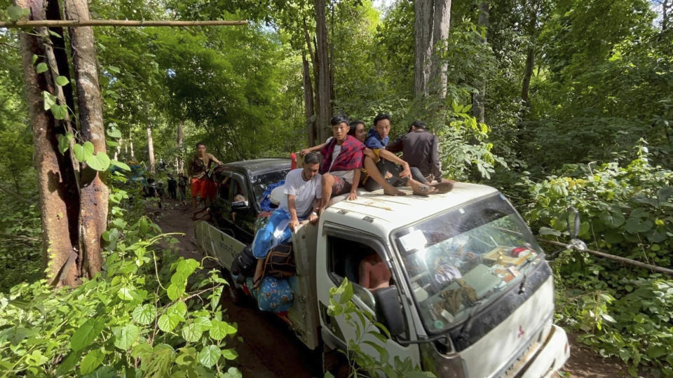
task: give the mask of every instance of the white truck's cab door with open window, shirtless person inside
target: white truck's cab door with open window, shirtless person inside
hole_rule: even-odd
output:
[[[358,344],[360,344],[362,351],[378,359],[380,357],[379,352],[369,345],[371,342],[386,349],[390,365],[395,365],[395,356],[399,357],[402,361],[410,358],[414,365],[420,365],[419,350],[416,344],[403,345],[403,342],[400,343],[402,340],[387,339],[378,328],[375,328],[376,332],[384,335],[381,339],[368,334],[358,337],[360,330],[357,329],[357,325],[353,326],[343,315],[331,318],[327,314],[329,289],[339,286],[344,277],[346,277],[353,285],[353,302],[355,306],[362,311],[372,314],[374,319],[376,319],[374,295],[367,288],[360,286],[360,264],[362,264],[363,260],[379,255],[388,269],[390,269],[390,265],[386,261],[388,260],[386,257],[386,247],[381,241],[376,240],[374,235],[367,236],[361,232],[354,233],[352,230],[348,230],[347,232],[333,231],[331,228],[325,228],[324,230],[325,232],[319,236],[318,241],[316,275],[318,307],[322,323],[322,336],[325,342],[329,346],[346,350],[349,340],[356,342],[359,340]],[[401,277],[398,278],[394,272],[391,274],[390,284],[393,285]],[[400,298],[400,305],[403,303],[404,301]],[[355,318],[354,320],[357,321]],[[405,335],[405,339],[409,339],[410,334],[414,333],[411,331],[412,327],[413,325],[409,323],[407,318],[407,335]],[[383,342],[383,339],[386,341]]]

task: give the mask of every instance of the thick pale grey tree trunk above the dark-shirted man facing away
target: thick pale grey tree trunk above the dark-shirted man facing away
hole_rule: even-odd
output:
[[[447,62],[440,57],[449,36],[451,0],[414,3],[414,95],[447,96]]]

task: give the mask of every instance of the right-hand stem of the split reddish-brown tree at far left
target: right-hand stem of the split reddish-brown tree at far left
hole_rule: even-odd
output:
[[[86,0],[65,0],[67,20],[89,20]],[[93,28],[69,28],[72,62],[77,83],[79,133],[83,141],[93,144],[94,153],[107,153],[103,109],[98,85],[98,69]],[[110,190],[107,172],[90,167],[81,171],[80,195],[80,261],[83,276],[93,277],[102,267],[102,233],[107,229],[107,207]]]

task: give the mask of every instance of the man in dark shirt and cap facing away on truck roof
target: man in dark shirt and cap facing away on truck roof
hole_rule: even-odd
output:
[[[393,153],[402,151],[402,160],[409,163],[414,180],[421,183],[437,180],[442,187],[451,186],[453,188],[452,181],[442,179],[440,146],[437,136],[428,132],[426,124],[420,120],[415,120],[409,132],[388,144],[386,150]],[[451,190],[451,188],[442,189]]]

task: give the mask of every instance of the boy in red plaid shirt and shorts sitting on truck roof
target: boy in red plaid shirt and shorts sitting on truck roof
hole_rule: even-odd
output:
[[[330,121],[334,138],[322,148],[322,204],[320,214],[325,211],[329,199],[349,193],[346,200],[356,200],[362,168],[362,152],[365,145],[348,135],[348,117],[334,116]]]

